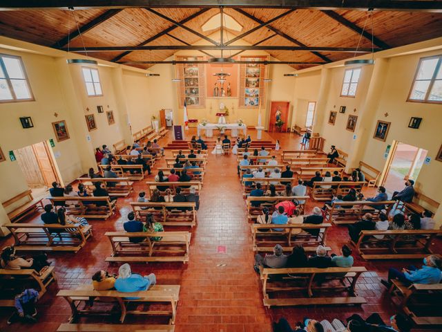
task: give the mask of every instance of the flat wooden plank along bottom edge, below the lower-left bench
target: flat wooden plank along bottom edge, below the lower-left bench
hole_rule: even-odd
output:
[[[175,325],[60,324],[57,332],[173,332]]]

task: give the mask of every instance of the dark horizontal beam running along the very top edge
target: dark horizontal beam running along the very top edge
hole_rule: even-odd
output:
[[[0,10],[90,8],[308,8],[442,12],[440,0],[2,0]]]

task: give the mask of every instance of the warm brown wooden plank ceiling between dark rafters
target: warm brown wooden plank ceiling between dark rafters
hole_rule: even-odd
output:
[[[224,42],[236,37],[260,23],[269,21],[288,9],[281,8],[224,8],[243,30],[238,33],[224,30]],[[113,11],[113,12],[111,12]],[[175,46],[190,45],[199,42],[204,36],[211,36],[220,42],[219,30],[202,31],[203,24],[219,8],[155,8],[160,15],[173,21],[186,21],[176,26],[154,12],[145,8],[75,10],[15,10],[0,11],[0,35],[21,39],[44,46],[66,48],[66,37],[75,33],[77,26],[84,33],[81,37],[73,36],[70,47],[113,47],[113,46]],[[242,39],[259,46],[320,46],[331,48],[355,48],[361,36],[361,29],[367,20],[367,12],[362,10],[323,11],[315,9],[297,9],[288,15],[263,26]],[[442,13],[374,11],[367,21],[366,33],[375,37],[375,48],[392,48],[421,42],[442,36]],[[89,25],[89,26],[88,26]],[[87,28],[86,28],[87,27]],[[162,33],[168,29],[168,34]],[[189,31],[193,30],[195,33]],[[200,34],[200,35],[198,35]],[[153,39],[153,37],[160,35]],[[214,37],[217,36],[217,37]],[[148,41],[151,38],[153,40]],[[262,42],[264,40],[264,42]],[[64,42],[61,42],[64,41]],[[146,44],[146,41],[148,43]],[[237,44],[241,42],[237,42]],[[204,41],[204,44],[207,42]],[[360,48],[371,48],[371,36],[361,39]],[[93,57],[116,62],[163,61],[176,52],[166,50],[100,50],[89,53]],[[191,52],[191,51],[189,51]],[[238,50],[226,50],[224,56],[237,53]],[[193,53],[197,53],[193,51]],[[206,53],[219,55],[216,50]],[[332,62],[353,56],[350,52],[311,52],[299,50],[269,50],[268,53],[282,62]],[[132,64],[139,68],[148,68],[151,64]],[[294,65],[305,68],[313,64]]]

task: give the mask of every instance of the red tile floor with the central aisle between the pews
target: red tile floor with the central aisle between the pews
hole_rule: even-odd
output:
[[[189,136],[195,129],[189,129]],[[256,131],[250,131],[256,138]],[[170,136],[170,135],[169,135]],[[163,145],[171,138],[167,136]],[[280,140],[282,149],[299,149],[300,138],[293,133],[263,133],[263,140]],[[166,150],[166,154],[170,151]],[[164,163],[164,162],[162,162]],[[159,164],[161,165],[161,164]],[[154,170],[155,174],[155,170]],[[151,176],[152,178],[153,176]],[[95,271],[107,269],[117,273],[118,266],[108,266],[104,258],[111,254],[111,245],[104,237],[108,230],[122,230],[126,214],[131,210],[128,203],[135,201],[141,190],[146,190],[144,181],[135,183],[135,192],[126,199],[118,200],[118,212],[106,221],[93,220],[94,236],[77,254],[50,252],[48,255],[57,272],[57,282],[52,283],[48,292],[39,301],[39,316],[36,324],[7,325],[10,308],[1,308],[0,331],[56,331],[60,323],[70,316],[70,308],[63,298],[55,295],[60,289],[76,288],[89,284]],[[373,193],[370,190],[369,194]],[[316,205],[307,204],[307,212]],[[38,221],[39,216],[35,216]],[[167,229],[166,229],[167,230]],[[318,320],[345,319],[352,313],[369,315],[380,313],[388,320],[396,312],[385,288],[379,283],[390,266],[401,267],[419,261],[362,261],[355,256],[355,266],[364,265],[369,270],[359,279],[358,294],[367,299],[362,306],[310,306],[267,309],[262,305],[262,291],[258,275],[253,270],[251,234],[246,220],[240,181],[236,175],[236,157],[213,156],[209,154],[204,188],[201,193],[201,207],[198,211],[198,225],[192,230],[189,264],[133,264],[133,271],[140,274],[155,273],[158,284],[180,284],[176,329],[184,331],[271,331],[271,322],[287,317],[294,323],[309,316]],[[333,227],[327,235],[327,246],[337,250],[349,241],[344,227]],[[11,239],[0,242],[1,247]],[[440,243],[437,243],[440,248]],[[218,252],[224,246],[225,252]],[[222,250],[221,250],[222,251]],[[439,251],[440,252],[440,251]],[[109,322],[108,318],[88,322]],[[152,323],[152,317],[135,318],[128,316],[126,323]],[[155,321],[156,322],[156,321]]]

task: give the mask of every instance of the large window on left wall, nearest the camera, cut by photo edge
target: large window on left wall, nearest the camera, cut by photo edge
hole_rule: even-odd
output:
[[[34,100],[21,57],[0,54],[0,102]]]

